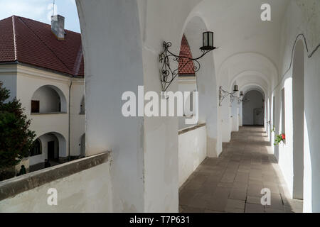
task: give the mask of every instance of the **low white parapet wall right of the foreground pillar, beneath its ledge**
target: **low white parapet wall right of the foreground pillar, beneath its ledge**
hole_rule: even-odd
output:
[[[206,126],[178,135],[179,187],[207,157]]]

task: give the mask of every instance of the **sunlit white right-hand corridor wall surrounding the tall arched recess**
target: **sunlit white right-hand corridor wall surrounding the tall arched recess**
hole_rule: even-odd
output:
[[[274,91],[279,100],[280,90],[282,87],[287,91],[292,89],[292,68],[287,71],[290,65],[292,48],[294,40],[296,40],[299,33],[304,33],[306,37],[306,43],[308,45],[309,54],[315,50],[316,46],[320,43],[320,2],[316,0],[304,1],[297,0],[291,1],[287,12],[284,16],[284,22],[282,23],[282,45],[280,49],[280,56],[282,62],[281,72],[284,74],[282,83]],[[320,53],[317,50],[311,58],[308,58],[305,48],[304,57],[304,212],[319,212],[320,211],[320,167],[319,167],[319,133],[320,125],[318,116],[320,114],[320,106],[314,103],[314,100],[320,98],[319,84],[320,84]],[[290,78],[290,79],[289,79]],[[292,93],[286,96],[286,99],[290,100]],[[291,100],[292,101],[292,100]],[[294,100],[293,100],[294,101]],[[291,104],[290,104],[291,105]],[[280,108],[279,101],[277,101],[277,109]],[[286,119],[292,121],[292,106],[287,106]],[[279,110],[277,110],[277,127],[281,122],[279,121]],[[291,119],[291,120],[290,120]],[[287,128],[287,150],[291,153],[287,153],[287,150],[279,148],[279,165],[284,172],[284,178],[289,184],[290,191],[292,193],[292,131]],[[277,150],[276,150],[277,151]],[[285,156],[284,156],[285,155]],[[287,161],[284,160],[287,157]]]

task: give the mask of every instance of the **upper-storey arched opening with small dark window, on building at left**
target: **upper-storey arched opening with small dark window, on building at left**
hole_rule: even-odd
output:
[[[38,87],[31,97],[31,114],[66,113],[67,99],[54,85]]]

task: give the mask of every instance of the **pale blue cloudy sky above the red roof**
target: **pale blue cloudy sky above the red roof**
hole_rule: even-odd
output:
[[[53,0],[0,0],[0,20],[12,15],[50,24]],[[75,0],[55,0],[58,14],[65,17],[65,28],[80,33]]]

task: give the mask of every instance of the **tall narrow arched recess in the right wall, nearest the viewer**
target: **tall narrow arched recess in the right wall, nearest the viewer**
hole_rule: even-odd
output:
[[[292,62],[292,120],[293,120],[293,192],[294,199],[304,194],[304,43],[299,40]]]

